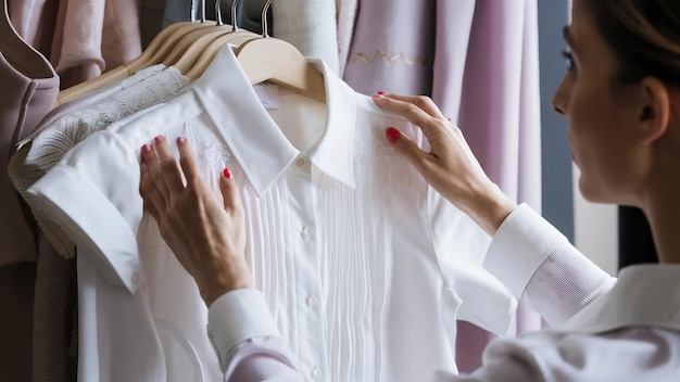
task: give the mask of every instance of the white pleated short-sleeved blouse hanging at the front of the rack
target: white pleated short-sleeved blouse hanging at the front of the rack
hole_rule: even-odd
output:
[[[499,333],[512,324],[516,300],[482,267],[488,235],[385,137],[394,126],[426,148],[419,129],[310,62],[324,74],[327,104],[278,89],[280,106],[267,111],[225,48],[187,91],[91,135],[28,190],[79,245],[83,364],[106,372],[80,375],[219,372],[198,290],[142,219],[139,150],[156,135],[189,139],[215,192],[222,169],[234,174],[255,286],[310,380],[454,372],[456,319]],[[121,318],[135,330],[117,327]],[[179,329],[174,343],[154,332],[159,321]],[[148,348],[130,348],[139,338]],[[163,362],[168,352],[175,358]],[[112,367],[128,361],[135,367]]]

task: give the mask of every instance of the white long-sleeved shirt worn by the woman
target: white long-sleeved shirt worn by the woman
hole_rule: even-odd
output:
[[[486,349],[481,368],[462,375],[442,372],[435,380],[680,380],[680,294],[668,288],[680,277],[680,266],[631,266],[618,280],[610,278],[526,204],[503,222],[486,264],[519,288],[519,294],[524,291],[538,311],[567,321],[553,330],[495,340]],[[567,282],[570,285],[565,288]],[[240,290],[211,306],[210,334],[217,347],[229,348],[221,351],[228,355],[224,380],[302,381],[285,345],[275,335],[267,336],[275,324],[261,300],[252,291]],[[228,321],[235,315],[239,322],[255,317],[269,322],[259,320],[262,327],[251,331],[252,338],[243,335],[234,345],[227,339],[234,340],[247,328]]]

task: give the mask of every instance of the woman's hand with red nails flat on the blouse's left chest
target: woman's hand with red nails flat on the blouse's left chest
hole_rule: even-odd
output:
[[[221,295],[253,285],[245,262],[245,215],[228,169],[219,177],[221,203],[201,177],[191,144],[179,138],[177,148],[179,165],[164,137],[142,147],[139,192],[210,307]]]

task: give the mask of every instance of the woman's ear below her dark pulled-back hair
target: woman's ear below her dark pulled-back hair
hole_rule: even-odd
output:
[[[666,132],[670,120],[671,104],[668,87],[658,78],[646,77],[641,82],[640,135],[645,143],[652,143]]]

